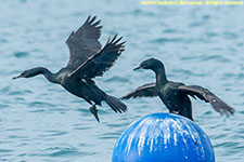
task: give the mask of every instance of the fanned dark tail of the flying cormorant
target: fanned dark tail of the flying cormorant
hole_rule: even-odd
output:
[[[106,95],[105,102],[115,112],[123,113],[127,110],[127,106],[116,97]]]

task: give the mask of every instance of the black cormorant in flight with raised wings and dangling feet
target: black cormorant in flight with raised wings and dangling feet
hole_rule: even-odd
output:
[[[91,104],[90,112],[98,121],[97,105],[105,100],[115,112],[125,112],[127,106],[116,97],[107,95],[95,85],[92,80],[108,70],[114,62],[125,50],[125,42],[119,42],[117,35],[111,40],[108,38],[105,46],[101,49],[98,39],[101,36],[101,21],[95,21],[95,16],[89,16],[77,31],[73,31],[66,43],[69,49],[69,62],[66,67],[56,73],[52,73],[44,67],[37,67],[25,70],[17,78],[30,78],[43,75],[50,82],[61,84],[69,93],[84,98]]]

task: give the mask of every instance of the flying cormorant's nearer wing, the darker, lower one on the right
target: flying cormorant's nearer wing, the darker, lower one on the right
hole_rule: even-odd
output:
[[[103,76],[108,70],[114,62],[125,50],[125,42],[119,43],[123,37],[117,38],[117,35],[107,40],[105,46],[95,55],[89,57],[82,65],[70,73],[70,77],[94,78]]]

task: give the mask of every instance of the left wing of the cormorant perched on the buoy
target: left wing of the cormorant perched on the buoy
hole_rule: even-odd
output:
[[[128,93],[123,96],[121,99],[137,98],[137,97],[156,97],[156,83],[149,83],[142,86],[139,86],[137,90]]]

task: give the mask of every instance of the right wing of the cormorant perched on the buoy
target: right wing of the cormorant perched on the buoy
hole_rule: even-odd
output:
[[[234,109],[227,105],[222,99],[217,97],[213,92],[198,85],[181,85],[177,87],[178,90],[191,95],[193,98],[198,97],[206,103],[210,103],[214,109],[221,114],[233,114]]]

